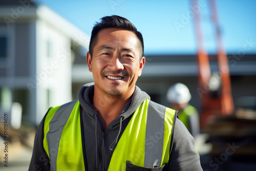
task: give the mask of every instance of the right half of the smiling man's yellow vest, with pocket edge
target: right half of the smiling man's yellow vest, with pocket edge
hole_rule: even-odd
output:
[[[109,165],[125,170],[126,161],[153,168],[168,163],[175,110],[146,99],[126,126]]]

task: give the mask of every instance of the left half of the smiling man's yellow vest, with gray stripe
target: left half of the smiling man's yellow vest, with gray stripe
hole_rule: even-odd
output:
[[[80,103],[75,100],[56,108],[50,109],[45,120],[44,147],[50,170],[84,170]]]

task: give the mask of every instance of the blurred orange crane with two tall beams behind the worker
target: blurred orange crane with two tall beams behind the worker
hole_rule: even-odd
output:
[[[191,5],[193,7],[199,7],[198,0],[191,0]],[[201,98],[201,112],[200,112],[200,126],[204,129],[206,124],[211,120],[212,117],[216,115],[230,115],[234,111],[233,99],[231,95],[231,83],[228,68],[227,55],[223,46],[221,30],[217,15],[216,1],[209,1],[211,21],[215,27],[215,36],[217,43],[217,62],[218,62],[218,75],[215,77],[215,81],[212,80],[212,73],[210,70],[210,62],[207,51],[204,47],[204,36],[202,31],[202,22],[200,10],[196,13],[194,17],[194,27],[196,32],[196,39],[198,45],[198,81],[199,89],[198,93]],[[216,81],[218,78],[220,82],[220,87],[215,94],[211,90],[211,87],[218,84]]]

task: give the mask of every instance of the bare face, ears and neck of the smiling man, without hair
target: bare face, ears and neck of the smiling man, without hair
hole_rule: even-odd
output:
[[[140,59],[138,45],[139,40],[133,32],[108,28],[98,33],[93,56],[87,53],[87,63],[95,81],[93,104],[103,131],[119,116],[135,91],[135,83],[145,63],[145,57]],[[105,101],[108,106],[102,107],[102,99],[108,99]]]

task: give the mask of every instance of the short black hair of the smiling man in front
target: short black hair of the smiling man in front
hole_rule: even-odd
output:
[[[143,43],[142,34],[136,29],[136,27],[128,19],[118,15],[104,16],[100,19],[101,19],[101,22],[100,23],[96,22],[92,30],[91,40],[89,44],[89,52],[91,54],[91,57],[93,55],[93,48],[97,44],[97,35],[99,31],[103,29],[108,29],[108,28],[116,28],[116,29],[129,30],[135,33],[135,35],[139,39],[140,59],[142,59],[142,57],[144,56],[144,43]]]

